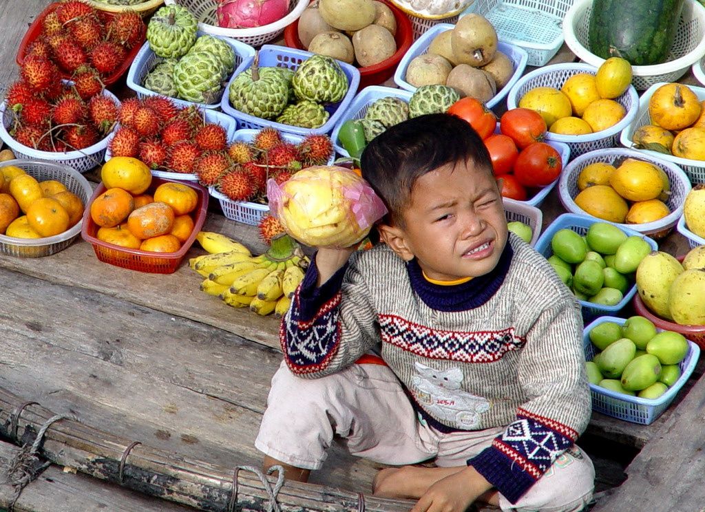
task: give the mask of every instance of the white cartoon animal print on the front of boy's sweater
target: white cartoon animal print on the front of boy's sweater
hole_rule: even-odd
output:
[[[453,426],[468,429],[479,425],[479,414],[489,409],[489,401],[462,391],[462,370],[436,370],[416,361],[411,392],[427,413]]]

